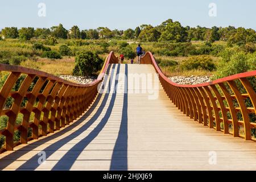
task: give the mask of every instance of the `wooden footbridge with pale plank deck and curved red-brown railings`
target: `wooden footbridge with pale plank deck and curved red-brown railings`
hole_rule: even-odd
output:
[[[111,52],[88,85],[0,65],[10,72],[0,92],[8,117],[0,169],[256,169],[256,71],[178,85],[150,52],[141,63],[118,64]]]

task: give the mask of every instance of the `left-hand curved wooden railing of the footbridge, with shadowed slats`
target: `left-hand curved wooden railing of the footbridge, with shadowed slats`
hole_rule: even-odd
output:
[[[0,130],[4,135],[6,150],[13,150],[18,144],[28,140],[38,139],[60,130],[76,118],[80,117],[92,104],[98,94],[109,64],[118,63],[117,57],[110,52],[104,62],[101,74],[90,84],[76,84],[49,73],[15,65],[0,64],[0,72],[10,72],[0,91],[0,116],[6,115],[7,126]],[[26,75],[18,90],[13,91],[21,75]],[[6,101],[12,98],[10,108],[6,108]],[[21,106],[25,102],[24,106]],[[34,113],[34,114],[31,114]],[[17,124],[19,114],[23,115],[22,123]],[[32,122],[31,122],[32,121]],[[28,137],[28,130],[32,129],[32,137]],[[14,142],[14,132],[20,131],[19,142]],[[39,132],[40,130],[40,132]]]

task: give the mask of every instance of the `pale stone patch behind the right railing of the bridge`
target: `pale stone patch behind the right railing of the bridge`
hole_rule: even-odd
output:
[[[176,84],[181,84],[181,85],[196,85],[196,84],[203,84],[205,82],[210,82],[210,77],[209,76],[172,76],[169,77],[169,79],[172,82],[175,82]]]

